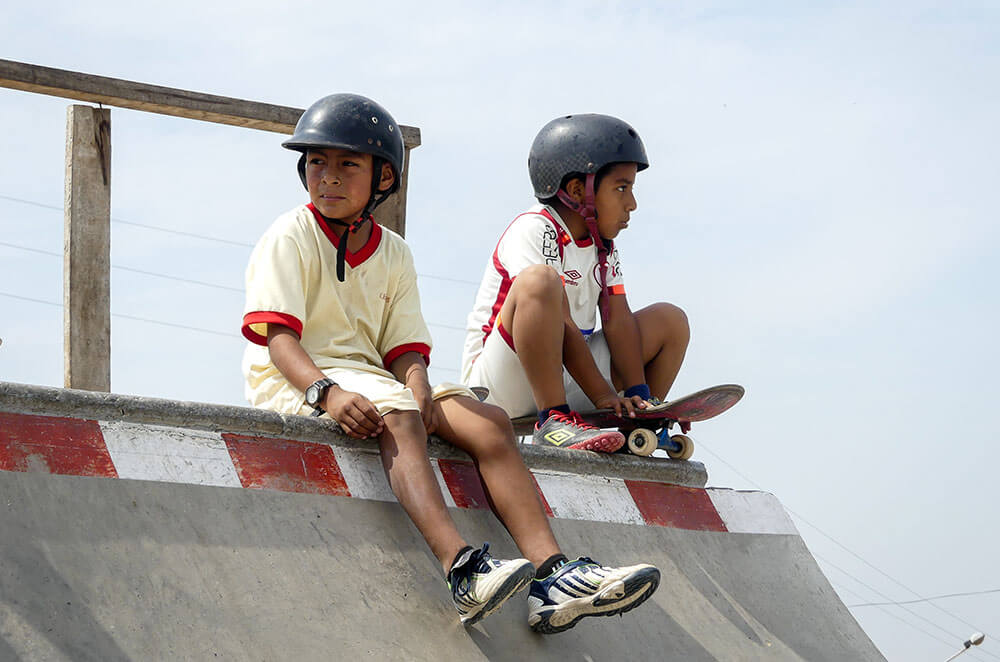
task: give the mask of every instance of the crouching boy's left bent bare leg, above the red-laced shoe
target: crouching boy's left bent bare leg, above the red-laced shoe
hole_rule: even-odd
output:
[[[517,275],[500,309],[500,323],[514,339],[540,410],[566,402],[562,381],[564,299],[559,274],[551,267],[534,265]]]

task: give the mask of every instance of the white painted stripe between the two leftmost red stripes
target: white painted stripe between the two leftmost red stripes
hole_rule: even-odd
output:
[[[218,433],[99,421],[120,478],[241,487]]]

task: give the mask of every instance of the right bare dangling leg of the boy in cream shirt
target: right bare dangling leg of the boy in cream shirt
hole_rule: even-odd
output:
[[[559,545],[507,414],[461,396],[437,400],[434,405],[440,408],[437,434],[472,457],[491,505],[521,554],[535,567],[558,554]]]

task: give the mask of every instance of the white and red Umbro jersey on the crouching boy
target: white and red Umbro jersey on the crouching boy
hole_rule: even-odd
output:
[[[597,247],[590,237],[575,241],[555,209],[535,205],[507,226],[486,265],[466,323],[463,382],[468,381],[486,338],[496,329],[511,284],[522,269],[533,264],[547,264],[562,276],[573,322],[584,335],[594,332],[601,295]],[[610,294],[625,293],[618,249],[613,244],[608,252],[606,281]]]

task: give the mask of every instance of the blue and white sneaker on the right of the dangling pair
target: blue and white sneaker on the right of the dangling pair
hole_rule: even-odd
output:
[[[606,568],[583,557],[531,582],[528,625],[535,632],[568,630],[584,616],[613,616],[635,609],[653,595],[660,571],[646,563]]]

